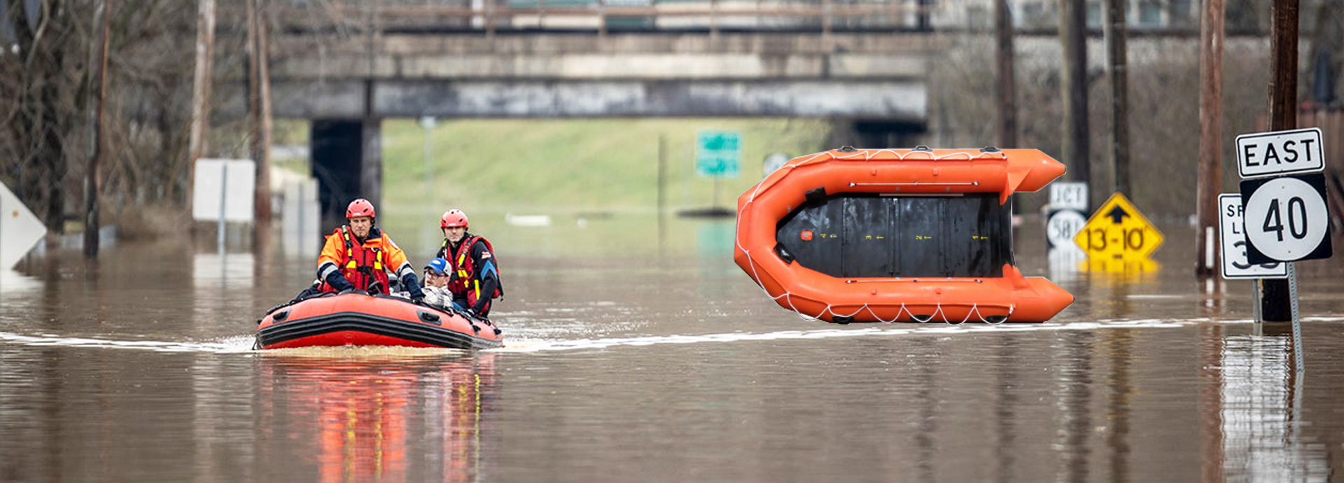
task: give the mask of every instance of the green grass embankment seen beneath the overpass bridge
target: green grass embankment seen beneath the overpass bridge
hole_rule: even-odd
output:
[[[652,213],[657,207],[659,139],[665,140],[667,207],[707,207],[715,183],[695,174],[696,132],[742,133],[741,176],[719,182],[719,205],[762,178],[770,153],[823,151],[821,120],[464,120],[425,129],[383,122],[383,203],[390,210],[468,213]],[[429,180],[429,183],[426,183]],[[426,186],[431,192],[426,195]]]

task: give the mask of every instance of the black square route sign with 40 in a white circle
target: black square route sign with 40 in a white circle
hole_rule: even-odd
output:
[[[1331,221],[1325,176],[1282,176],[1242,182],[1246,258],[1251,264],[1329,258]]]

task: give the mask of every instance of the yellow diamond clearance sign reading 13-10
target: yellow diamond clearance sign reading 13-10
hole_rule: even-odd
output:
[[[1163,244],[1163,233],[1125,195],[1116,192],[1074,235],[1089,257],[1144,260]]]

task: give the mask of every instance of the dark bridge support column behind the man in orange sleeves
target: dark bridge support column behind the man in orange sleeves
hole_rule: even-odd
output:
[[[383,209],[382,120],[313,120],[309,125],[312,172],[317,178],[323,231],[345,222],[345,206],[366,198]]]

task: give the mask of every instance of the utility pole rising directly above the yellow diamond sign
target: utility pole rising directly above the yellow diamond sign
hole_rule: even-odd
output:
[[[1110,137],[1116,191],[1133,196],[1129,184],[1129,70],[1126,69],[1125,1],[1106,0],[1106,52],[1110,61]]]

